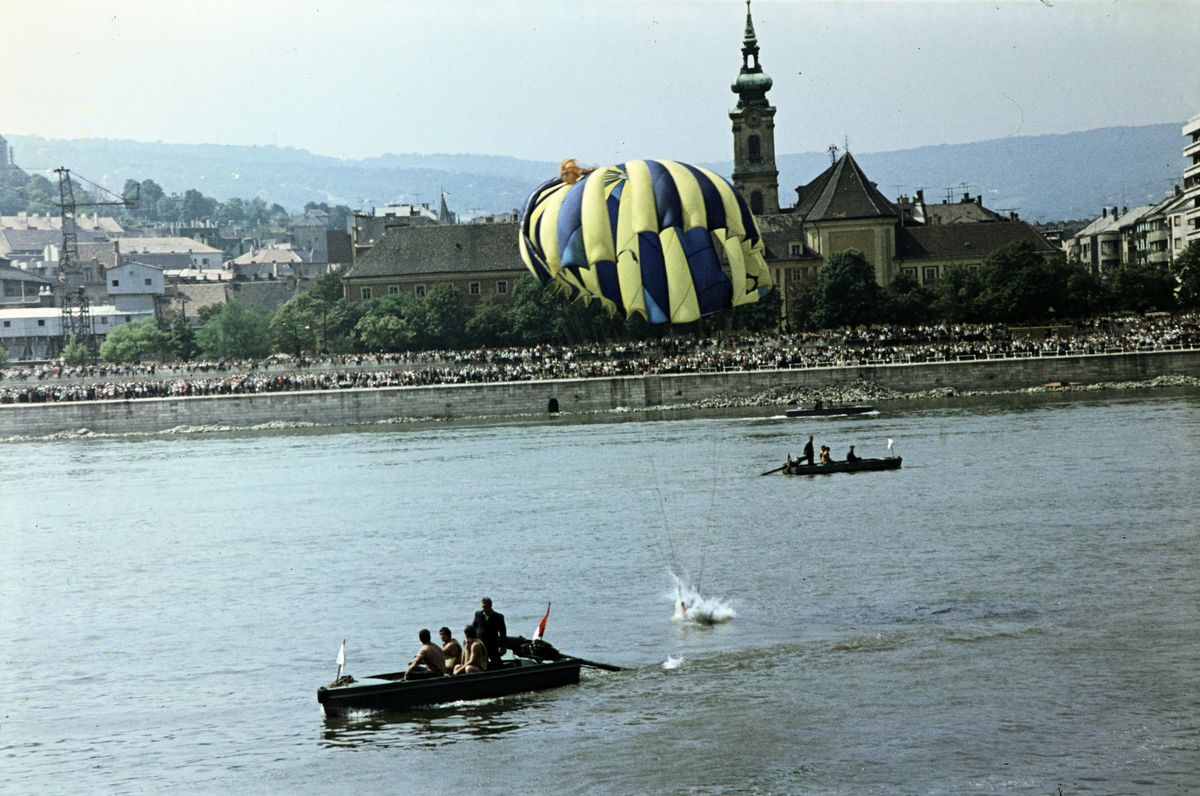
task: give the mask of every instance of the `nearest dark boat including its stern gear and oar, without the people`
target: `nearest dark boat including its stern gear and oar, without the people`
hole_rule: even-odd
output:
[[[514,658],[503,660],[498,669],[488,668],[469,675],[420,671],[406,680],[403,671],[394,671],[355,680],[341,676],[340,670],[335,682],[317,689],[317,701],[325,716],[356,711],[407,711],[578,684],[582,666],[620,670],[619,666],[564,656],[540,639],[530,641],[509,636],[506,645],[512,650]]]

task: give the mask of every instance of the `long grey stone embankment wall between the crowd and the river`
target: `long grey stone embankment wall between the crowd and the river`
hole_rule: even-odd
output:
[[[661,373],[613,378],[442,384],[145,400],[0,406],[0,438],[88,430],[154,433],[180,427],[248,429],[271,424],[346,426],[419,419],[517,418],[654,409],[870,382],[920,393],[1020,390],[1049,382],[1200,378],[1200,351],[1037,357],[977,361]]]

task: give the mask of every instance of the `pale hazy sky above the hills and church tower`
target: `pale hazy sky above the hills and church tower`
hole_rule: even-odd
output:
[[[755,0],[776,151],[1200,114],[1195,0]],[[732,157],[742,0],[0,0],[0,134]]]

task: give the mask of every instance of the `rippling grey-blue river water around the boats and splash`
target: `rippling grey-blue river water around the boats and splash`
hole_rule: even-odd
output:
[[[806,433],[904,468],[758,475]],[[0,444],[0,790],[1195,792],[1198,453],[1194,393]],[[628,670],[322,716],[484,594]]]

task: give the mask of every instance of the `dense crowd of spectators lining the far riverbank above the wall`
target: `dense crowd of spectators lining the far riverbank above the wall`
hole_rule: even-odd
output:
[[[871,327],[316,359],[276,355],[263,360],[77,367],[48,364],[0,371],[0,403],[836,367],[1198,347],[1200,316],[1158,315],[1028,329],[979,324]]]

